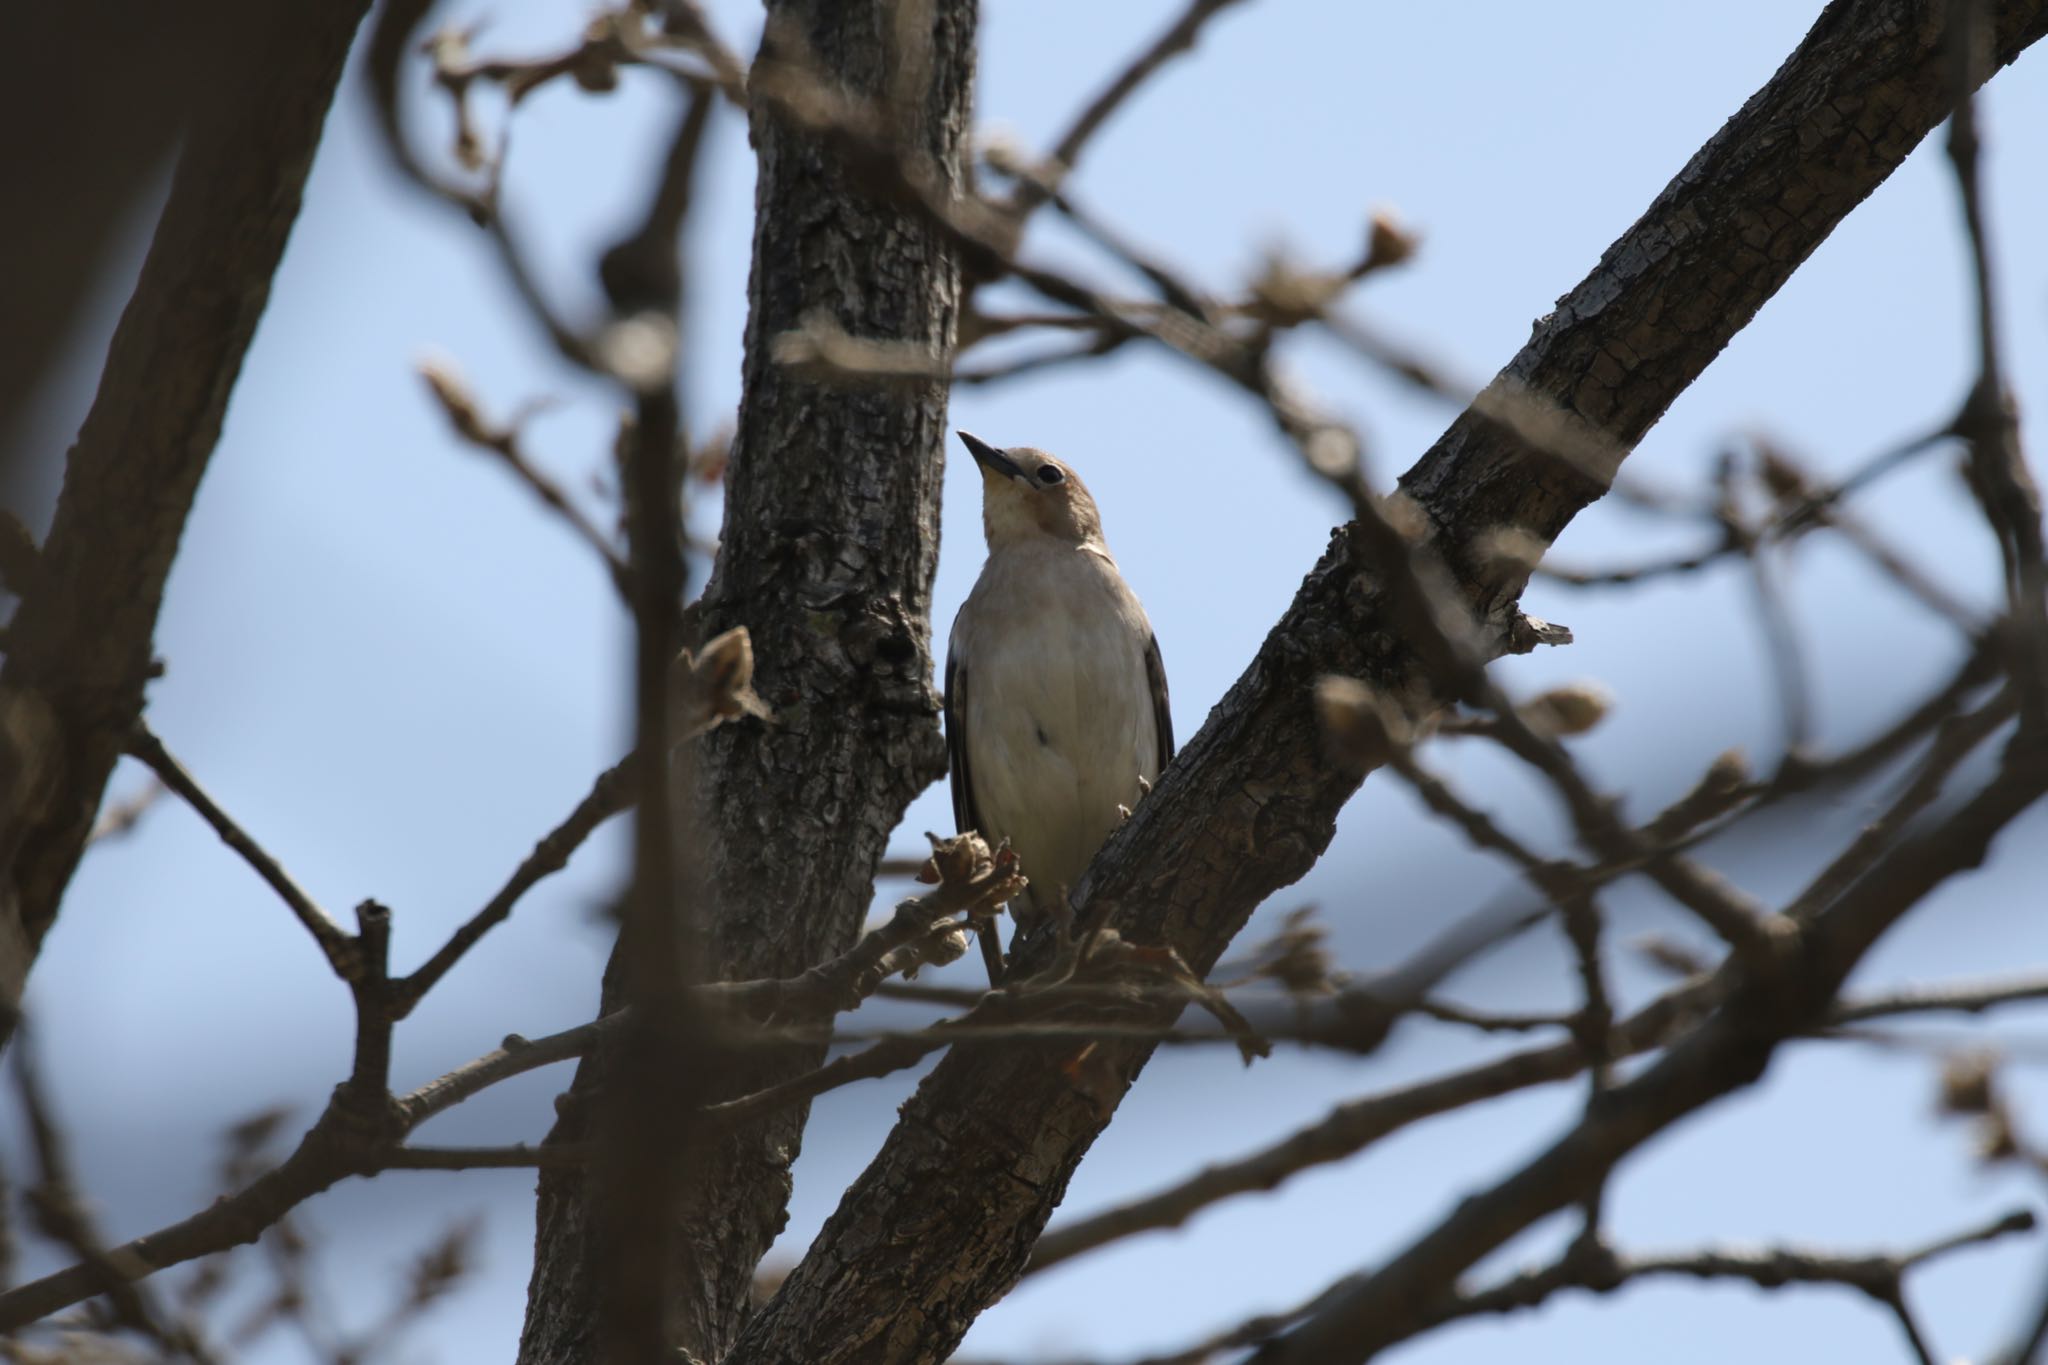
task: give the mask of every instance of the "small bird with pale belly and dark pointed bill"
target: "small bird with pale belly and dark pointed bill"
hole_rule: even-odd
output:
[[[1008,839],[1028,888],[1020,931],[1063,919],[1104,839],[1174,757],[1165,663],[1071,465],[958,432],[981,467],[989,559],[946,643],[952,819]],[[1001,939],[981,925],[989,984]]]

